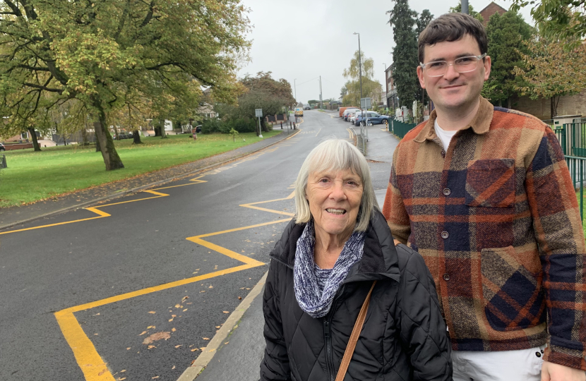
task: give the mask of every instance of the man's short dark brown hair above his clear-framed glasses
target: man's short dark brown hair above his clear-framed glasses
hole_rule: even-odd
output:
[[[474,37],[474,40],[478,42],[480,54],[488,52],[489,43],[486,40],[486,30],[484,30],[484,25],[476,18],[465,13],[446,13],[435,20],[431,20],[431,23],[419,35],[419,45],[417,47],[419,62],[424,62],[424,48],[426,46],[444,41],[458,41],[464,35]]]

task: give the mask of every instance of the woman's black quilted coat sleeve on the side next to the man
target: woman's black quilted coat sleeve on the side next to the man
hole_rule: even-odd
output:
[[[397,250],[411,252],[401,274],[397,318],[414,380],[452,380],[450,339],[433,278],[419,253],[402,245]]]

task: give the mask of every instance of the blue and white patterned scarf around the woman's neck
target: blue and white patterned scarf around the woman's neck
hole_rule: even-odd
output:
[[[295,298],[297,298],[301,310],[304,310],[311,317],[323,317],[328,315],[336,291],[346,279],[350,267],[362,258],[364,231],[354,231],[348,238],[323,286],[320,286],[319,279],[316,277],[317,266],[313,258],[315,245],[313,221],[310,221],[297,240],[293,267],[294,289]]]

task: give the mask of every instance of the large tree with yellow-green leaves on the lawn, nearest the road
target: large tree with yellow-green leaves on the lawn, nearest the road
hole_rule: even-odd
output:
[[[26,127],[71,99],[90,116],[107,170],[123,168],[107,114],[126,95],[181,99],[181,83],[232,99],[249,20],[238,0],[4,0],[0,109]],[[50,97],[47,95],[51,95]]]

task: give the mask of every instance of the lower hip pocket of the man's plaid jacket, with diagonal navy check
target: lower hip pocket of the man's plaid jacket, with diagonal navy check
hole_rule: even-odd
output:
[[[515,331],[545,321],[537,251],[517,253],[513,246],[482,249],[480,266],[484,314],[492,329]]]

